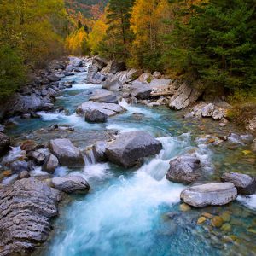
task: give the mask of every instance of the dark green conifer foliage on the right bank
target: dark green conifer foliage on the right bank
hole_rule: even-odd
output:
[[[169,49],[163,60],[208,87],[250,90],[256,82],[255,18],[253,1],[210,0],[183,8],[166,37]]]

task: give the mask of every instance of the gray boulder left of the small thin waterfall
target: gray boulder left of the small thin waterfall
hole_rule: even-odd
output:
[[[52,154],[57,157],[61,166],[84,166],[84,158],[79,148],[75,147],[67,138],[51,140],[49,142],[49,148]]]

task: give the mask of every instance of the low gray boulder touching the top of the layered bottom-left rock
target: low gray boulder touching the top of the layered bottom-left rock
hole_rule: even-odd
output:
[[[54,177],[52,183],[55,189],[65,193],[87,193],[90,190],[90,185],[83,177]]]

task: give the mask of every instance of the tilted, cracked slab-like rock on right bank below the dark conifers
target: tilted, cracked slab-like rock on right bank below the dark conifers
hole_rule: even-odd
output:
[[[181,110],[196,102],[200,96],[200,90],[196,90],[189,84],[183,83],[172,96],[169,106],[170,108]]]

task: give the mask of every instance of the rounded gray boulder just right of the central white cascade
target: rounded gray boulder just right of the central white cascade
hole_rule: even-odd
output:
[[[175,183],[194,183],[201,177],[201,163],[195,156],[184,154],[170,161],[166,179]]]

